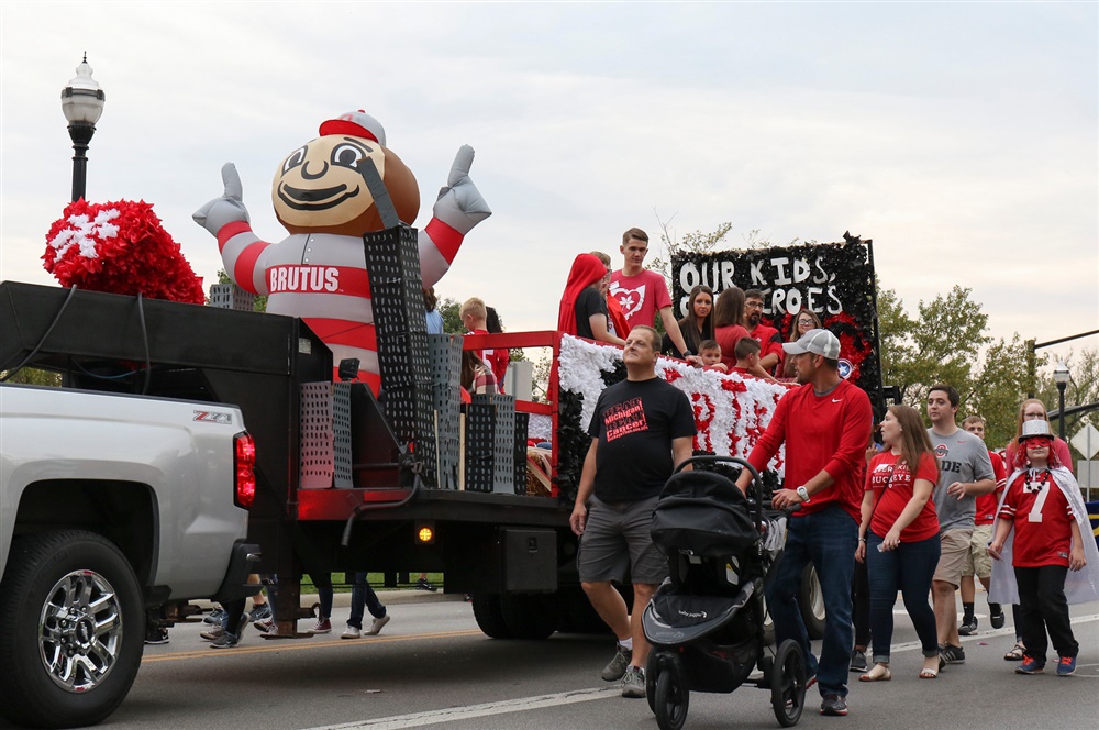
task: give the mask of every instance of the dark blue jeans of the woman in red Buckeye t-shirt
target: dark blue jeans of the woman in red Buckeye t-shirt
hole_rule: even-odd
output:
[[[874,638],[874,661],[888,662],[892,643],[892,607],[897,591],[904,597],[904,608],[920,637],[924,656],[939,653],[935,611],[928,602],[931,577],[939,565],[942,541],[937,534],[919,542],[902,542],[897,550],[878,552],[881,538],[867,532],[866,567],[870,583],[870,635]]]

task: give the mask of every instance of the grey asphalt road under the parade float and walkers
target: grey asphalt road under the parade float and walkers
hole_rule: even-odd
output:
[[[264,640],[248,629],[238,648],[217,651],[199,639],[201,627],[177,626],[169,644],[146,646],[130,696],[99,727],[656,728],[645,700],[623,699],[599,679],[611,655],[607,638],[496,641],[477,629],[468,604],[441,599],[391,605],[392,621],[382,633],[357,641],[341,640],[343,623],[334,621],[331,634],[291,641]],[[983,605],[980,595],[978,610]],[[800,727],[1092,730],[1099,717],[1097,610],[1097,604],[1074,607],[1081,644],[1074,677],[1015,675],[1015,664],[1002,659],[1013,643],[1010,623],[991,631],[986,619],[979,633],[965,640],[964,665],[921,681],[914,632],[901,609],[893,679],[861,684],[852,674],[847,718],[819,716],[811,690]],[[336,618],[345,611],[337,608]],[[731,695],[691,694],[688,729],[777,727],[769,693],[745,686]]]

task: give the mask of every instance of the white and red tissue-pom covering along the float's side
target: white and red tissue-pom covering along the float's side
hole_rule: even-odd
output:
[[[586,428],[604,387],[603,370],[613,370],[622,360],[618,347],[597,345],[569,335],[562,338],[558,374],[563,390],[584,396],[580,423]],[[791,386],[782,383],[743,378],[691,367],[682,361],[660,357],[656,374],[690,398],[698,435],[695,449],[722,456],[747,457],[756,441],[767,430],[778,401]],[[786,464],[782,446],[769,468],[781,475]]]

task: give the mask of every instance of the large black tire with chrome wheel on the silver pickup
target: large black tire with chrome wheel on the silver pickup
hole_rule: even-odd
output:
[[[119,549],[93,532],[15,538],[0,584],[0,716],[16,725],[99,722],[141,666],[141,588]]]

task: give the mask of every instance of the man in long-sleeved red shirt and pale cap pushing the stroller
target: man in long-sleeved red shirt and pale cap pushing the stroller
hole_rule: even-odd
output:
[[[821,715],[846,715],[847,664],[854,640],[851,582],[870,441],[870,399],[840,377],[840,340],[828,330],[810,330],[782,347],[793,358],[801,387],[778,401],[767,431],[748,455],[752,466],[763,471],[786,443],[784,483],[789,488],[777,490],[771,504],[776,509],[800,505],[790,519],[767,606],[775,619],[776,641],[793,639],[801,644],[807,673],[819,681]],[[751,474],[744,469],[736,486],[746,490],[750,482]],[[810,562],[820,578],[826,612],[819,662],[798,608],[801,574]]]

